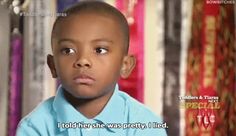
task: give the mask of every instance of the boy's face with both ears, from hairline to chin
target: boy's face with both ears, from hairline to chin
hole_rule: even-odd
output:
[[[77,98],[92,99],[114,89],[121,74],[127,77],[135,64],[125,53],[118,24],[98,14],[71,15],[57,24],[53,55],[48,65],[53,77]]]

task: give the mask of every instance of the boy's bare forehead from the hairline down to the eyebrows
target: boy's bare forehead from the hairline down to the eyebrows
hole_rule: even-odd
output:
[[[89,39],[93,43],[123,43],[123,33],[117,23],[113,19],[99,14],[71,15],[64,18],[63,21],[58,22],[56,29],[52,39],[52,46],[61,43],[60,41],[63,39],[67,39],[63,40],[64,42],[73,41],[77,43],[80,43],[85,39]]]

